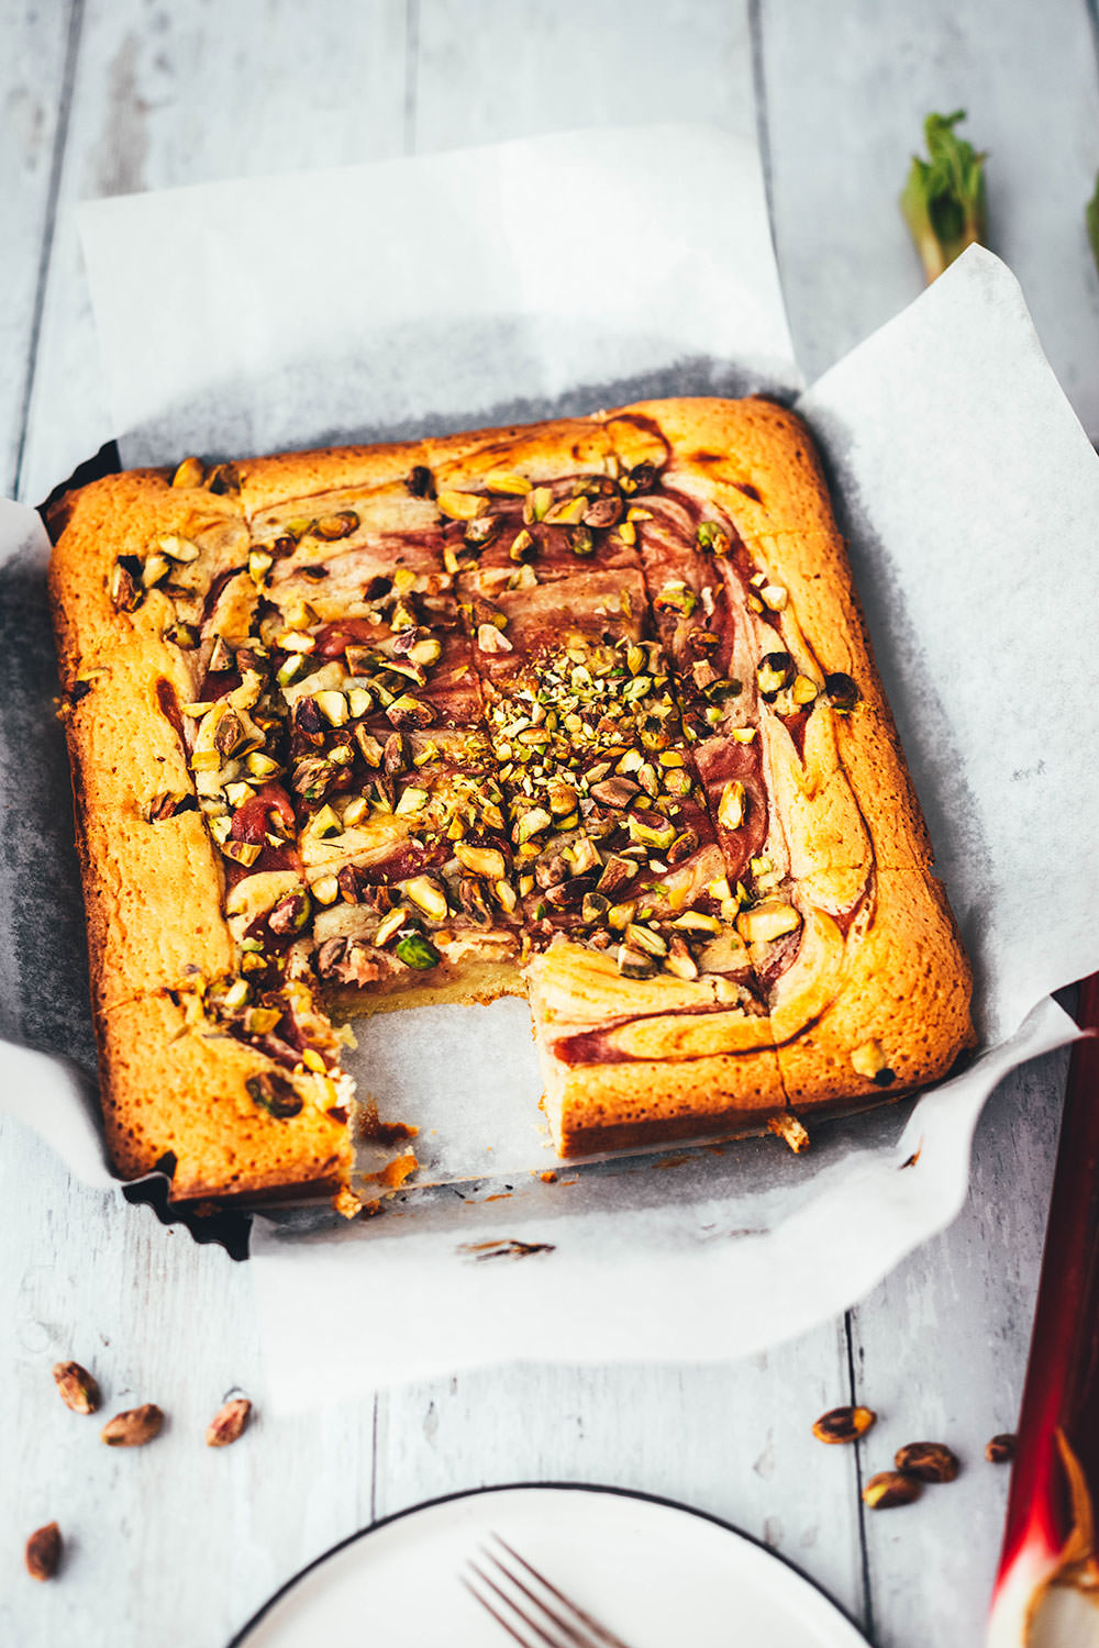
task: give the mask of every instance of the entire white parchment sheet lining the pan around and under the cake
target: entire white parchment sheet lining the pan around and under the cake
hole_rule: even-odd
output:
[[[133,196],[87,208],[84,234],[127,463],[799,387],[758,157],[709,130]],[[1099,771],[1081,760],[1099,732],[1099,458],[1017,283],[977,249],[799,405],[975,962],[982,1056],[914,1106],[821,1127],[809,1157],[746,1140],[545,1183],[521,1004],[369,1022],[359,1076],[420,1124],[427,1185],[354,1226],[257,1221],[275,1404],[509,1356],[732,1356],[832,1317],[957,1213],[1003,1071],[1074,1033],[1045,997],[1099,967]],[[23,569],[38,633],[25,526],[0,516],[0,575]],[[36,784],[36,834],[0,865],[54,859],[79,934],[56,733],[48,778],[26,773],[40,654],[21,740],[0,748],[10,791]],[[3,1027],[87,1065],[79,964],[46,992],[53,1018],[30,1005],[51,915],[43,895],[15,923]],[[43,1106],[64,1131],[64,1101]]]

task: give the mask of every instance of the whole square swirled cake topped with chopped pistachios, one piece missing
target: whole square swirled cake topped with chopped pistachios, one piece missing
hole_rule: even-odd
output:
[[[423,1002],[529,997],[564,1155],[797,1144],[972,1045],[791,412],[186,458],[51,527],[122,1175],[354,1206],[346,1018]]]

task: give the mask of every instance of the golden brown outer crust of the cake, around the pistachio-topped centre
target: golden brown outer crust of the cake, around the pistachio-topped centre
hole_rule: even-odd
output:
[[[817,697],[797,737],[761,697],[758,748],[766,850],[801,938],[763,1007],[705,974],[621,979],[606,954],[570,941],[535,954],[527,987],[559,1144],[633,1147],[760,1127],[791,1106],[804,1114],[865,1104],[939,1078],[972,1045],[969,969],[931,875],[821,466],[794,414],[766,400],[644,402],[590,419],[241,460],[222,491],[132,471],[69,494],[49,580],[104,1109],[122,1173],[170,1154],[176,1196],[265,1195],[339,1182],[351,1150],[336,1112],[308,1103],[288,1117],[257,1109],[249,1081],[277,1065],[189,1010],[188,981],[234,967],[224,860],[193,806],[153,816],[163,796],[194,796],[180,733],[191,672],[168,638],[173,603],[161,588],[119,610],[119,557],[140,560],[178,534],[199,545],[209,583],[242,567],[265,517],[285,517],[297,501],[313,513],[354,501],[367,524],[419,532],[437,516],[405,486],[415,466],[440,491],[473,493],[503,471],[537,486],[636,465],[657,466],[674,496],[727,521],[760,582],[784,592],[758,649],[781,643]],[[648,567],[644,529],[641,539]],[[186,569],[180,577],[186,585]],[[853,707],[829,691],[839,677],[857,686]]]

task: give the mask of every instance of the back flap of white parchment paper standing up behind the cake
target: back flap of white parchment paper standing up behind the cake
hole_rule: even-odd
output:
[[[127,196],[81,229],[127,465],[801,384],[756,150],[705,127]]]

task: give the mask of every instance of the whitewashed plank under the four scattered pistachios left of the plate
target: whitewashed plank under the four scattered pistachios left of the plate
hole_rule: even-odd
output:
[[[44,89],[56,13],[44,8],[35,26],[30,84]],[[5,28],[0,76],[18,66],[8,38]],[[399,153],[404,53],[404,0],[338,13],[270,0],[231,12],[203,0],[87,5],[20,496],[41,498],[110,435],[76,201]],[[36,119],[48,147],[53,115]],[[23,264],[33,277],[35,257],[20,279]],[[336,1409],[320,1393],[316,1414],[267,1422],[247,1271],[74,1185],[13,1122],[0,1126],[0,1638],[221,1648],[272,1589],[369,1519],[372,1404]],[[49,1366],[66,1355],[96,1368],[110,1409],[163,1404],[165,1435],[140,1454],[107,1452],[99,1426],[58,1401]],[[257,1398],[260,1417],[236,1449],[208,1450],[204,1424],[232,1384]],[[54,1516],[71,1539],[64,1584],[36,1587],[20,1574],[21,1543]]]

